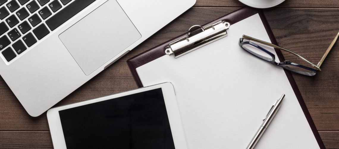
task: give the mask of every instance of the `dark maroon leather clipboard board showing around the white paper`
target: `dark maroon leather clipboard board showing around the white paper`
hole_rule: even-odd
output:
[[[259,14],[260,19],[261,19],[261,21],[262,21],[262,23],[264,25],[265,31],[267,32],[267,35],[268,35],[269,39],[271,40],[271,43],[277,44],[277,41],[276,41],[276,39],[275,39],[275,37],[273,35],[273,32],[272,32],[270,26],[267,23],[267,20],[266,20],[266,18],[264,16],[263,12],[260,9],[256,9],[256,8],[251,8],[251,7],[241,8],[241,9],[236,10],[236,11],[230,13],[230,14],[227,14],[227,15],[225,15],[223,17],[220,17],[220,18],[218,18],[216,20],[213,20],[213,21],[211,21],[209,23],[206,23],[205,25],[202,25],[202,27],[203,28],[208,28],[208,26],[211,26],[212,24],[216,24],[218,22],[220,23],[220,21],[221,22],[224,21],[224,22],[229,23],[231,25],[229,27],[231,28],[232,24],[240,22],[241,20],[244,20],[244,19],[246,19],[248,17],[251,17],[251,16],[253,16],[255,14]],[[168,51],[166,51],[166,49],[168,49],[170,44],[175,43],[177,41],[188,40],[187,36],[188,36],[187,33],[183,34],[183,35],[180,35],[180,36],[178,36],[178,37],[176,37],[176,38],[174,38],[172,40],[169,40],[169,41],[167,41],[167,42],[165,42],[163,44],[160,44],[160,45],[156,46],[153,49],[147,50],[147,51],[145,51],[145,52],[143,52],[143,53],[141,53],[141,54],[139,54],[139,55],[137,55],[137,56],[127,60],[128,66],[131,69],[131,72],[132,72],[132,74],[133,74],[133,76],[134,76],[134,78],[135,78],[135,80],[137,82],[138,87],[143,87],[143,84],[142,84],[142,81],[141,81],[141,79],[140,79],[140,77],[138,75],[137,68],[139,68],[139,67],[141,67],[141,66],[143,66],[143,65],[145,65],[145,64],[147,64],[149,62],[152,62],[152,61],[154,61],[154,60],[156,60],[156,59],[158,59],[160,57],[165,56],[167,54],[166,52],[168,52]],[[208,43],[205,43],[205,44],[208,44]],[[202,46],[204,46],[204,45],[202,45]],[[186,51],[186,53],[184,52],[184,54],[187,54],[188,52],[192,52],[192,51]],[[281,61],[283,61],[284,57],[283,57],[281,51],[275,49],[275,52],[276,52],[276,56]],[[172,52],[170,52],[170,53],[172,54]],[[181,53],[181,54],[183,54],[183,53]],[[179,56],[182,56],[182,55],[179,54]],[[311,117],[310,113],[307,110],[305,102],[304,102],[304,100],[303,100],[303,98],[301,96],[301,93],[300,93],[300,91],[299,91],[299,89],[298,89],[298,87],[297,87],[297,85],[295,83],[295,80],[294,80],[291,72],[290,71],[286,71],[286,70],[284,70],[284,72],[285,72],[286,77],[287,77],[287,79],[288,79],[288,81],[289,81],[289,83],[290,83],[290,85],[291,85],[291,87],[293,89],[293,92],[294,92],[294,94],[295,94],[295,96],[296,96],[296,98],[298,100],[298,103],[299,103],[299,105],[300,105],[300,107],[302,109],[302,112],[303,112],[305,118],[307,119],[308,125],[310,126],[310,128],[311,128],[311,130],[313,132],[313,135],[314,135],[314,137],[316,139],[316,142],[319,145],[319,148],[325,149],[325,146],[324,146],[324,144],[323,144],[323,142],[322,142],[322,140],[320,138],[320,135],[319,135],[319,133],[318,133],[318,131],[316,129],[316,126],[315,126],[315,124],[314,124],[314,122],[312,120],[312,117]],[[274,129],[274,128],[272,128],[272,129]],[[250,134],[250,135],[253,135],[253,134]],[[291,137],[293,137],[293,136],[291,136]],[[248,140],[248,142],[249,141],[250,140]],[[248,142],[244,142],[245,147],[246,147]],[[296,148],[298,148],[298,147],[296,147]]]

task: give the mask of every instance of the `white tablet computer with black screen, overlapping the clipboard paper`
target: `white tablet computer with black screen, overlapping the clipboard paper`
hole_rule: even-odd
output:
[[[171,83],[48,110],[54,148],[187,149]]]

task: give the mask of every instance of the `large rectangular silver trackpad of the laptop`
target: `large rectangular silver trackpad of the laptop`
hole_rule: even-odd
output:
[[[116,0],[108,0],[59,35],[82,71],[89,75],[141,38]]]

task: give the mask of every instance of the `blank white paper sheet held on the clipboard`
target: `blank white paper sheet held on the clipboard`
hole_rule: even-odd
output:
[[[231,24],[227,32],[182,57],[165,55],[137,68],[143,86],[173,83],[188,148],[246,148],[283,93],[282,106],[256,148],[319,148],[283,69],[238,45],[243,34],[270,42],[259,15]]]

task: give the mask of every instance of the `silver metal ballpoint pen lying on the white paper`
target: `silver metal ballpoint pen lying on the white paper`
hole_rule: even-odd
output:
[[[273,103],[272,107],[267,112],[264,119],[262,119],[264,122],[262,122],[257,133],[254,135],[254,137],[252,138],[250,144],[248,144],[246,149],[253,149],[255,147],[255,145],[258,143],[260,137],[262,136],[262,134],[264,134],[266,128],[268,127],[268,125],[270,125],[273,117],[278,112],[278,110],[281,106],[281,101],[282,101],[282,99],[284,99],[284,97],[285,97],[285,94],[282,94],[281,98]]]

